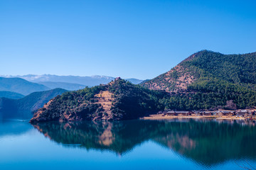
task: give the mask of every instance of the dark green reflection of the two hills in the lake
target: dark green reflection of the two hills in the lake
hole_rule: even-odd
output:
[[[33,126],[65,147],[109,150],[119,155],[151,140],[207,166],[230,159],[256,159],[255,122],[129,120]]]

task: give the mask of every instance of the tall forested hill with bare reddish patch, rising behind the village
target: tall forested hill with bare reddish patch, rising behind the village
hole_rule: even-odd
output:
[[[196,52],[142,86],[171,92],[167,108],[256,106],[256,52],[244,55]]]

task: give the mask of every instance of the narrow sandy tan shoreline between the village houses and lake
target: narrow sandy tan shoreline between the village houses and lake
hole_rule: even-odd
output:
[[[154,114],[141,118],[142,120],[169,120],[176,118],[206,118],[206,119],[218,119],[218,120],[247,120],[247,118],[237,117],[235,115],[164,115]],[[254,119],[252,119],[254,120]]]

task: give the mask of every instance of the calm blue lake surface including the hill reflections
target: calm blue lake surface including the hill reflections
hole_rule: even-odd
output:
[[[0,169],[242,169],[256,167],[247,121],[0,121]]]

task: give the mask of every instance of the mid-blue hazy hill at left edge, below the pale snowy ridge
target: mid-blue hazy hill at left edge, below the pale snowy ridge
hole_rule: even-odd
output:
[[[18,94],[28,95],[35,91],[49,90],[47,86],[32,83],[21,78],[0,77],[0,91],[13,91]]]

